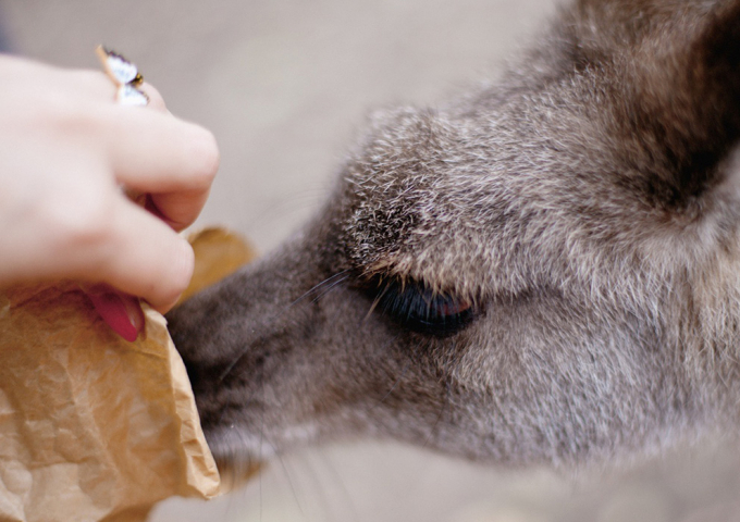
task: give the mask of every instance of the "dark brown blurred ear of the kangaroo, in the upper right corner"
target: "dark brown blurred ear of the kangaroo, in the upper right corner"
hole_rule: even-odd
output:
[[[646,152],[649,191],[668,207],[721,183],[740,140],[740,1],[718,3],[656,23],[625,71],[621,130]]]

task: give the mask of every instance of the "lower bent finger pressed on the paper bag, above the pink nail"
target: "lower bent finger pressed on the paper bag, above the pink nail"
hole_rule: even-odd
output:
[[[91,266],[81,276],[140,296],[164,313],[190,281],[193,249],[141,208],[124,198],[115,201],[111,229],[85,252]]]

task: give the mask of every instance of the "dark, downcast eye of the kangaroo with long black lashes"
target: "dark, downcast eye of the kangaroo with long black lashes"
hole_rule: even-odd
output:
[[[405,328],[440,337],[459,332],[474,315],[470,301],[418,283],[378,285],[374,306]]]

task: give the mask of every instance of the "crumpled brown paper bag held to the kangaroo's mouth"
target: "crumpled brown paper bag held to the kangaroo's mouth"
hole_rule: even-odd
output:
[[[201,236],[196,253],[239,243]],[[207,281],[189,294],[242,251],[225,269],[201,253]],[[0,291],[0,521],[134,522],[170,496],[219,493],[185,366],[164,318],[145,315],[146,339],[127,343],[73,283]]]

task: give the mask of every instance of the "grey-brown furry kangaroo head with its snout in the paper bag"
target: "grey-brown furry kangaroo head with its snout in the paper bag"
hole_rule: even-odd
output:
[[[739,138],[737,0],[582,0],[499,83],[377,113],[299,235],[169,318],[217,458],[737,423]]]

